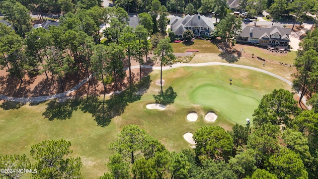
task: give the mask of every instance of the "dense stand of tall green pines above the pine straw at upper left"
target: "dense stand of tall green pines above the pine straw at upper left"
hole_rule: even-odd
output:
[[[117,88],[117,79],[126,75],[123,60],[128,57],[129,69],[131,59],[142,65],[151,50],[148,36],[158,31],[165,32],[166,9],[158,2],[154,0],[157,5],[152,8],[154,16],[160,14],[158,25],[157,19],[149,13],[141,13],[141,25],[133,29],[128,26],[129,16],[123,8],[93,6],[68,12],[60,17],[58,27],[50,26],[46,30],[31,27],[28,10],[19,2],[2,1],[1,11],[6,19],[14,23],[15,31],[0,24],[0,66],[18,77],[21,83],[26,73],[45,73],[47,79],[57,79],[64,90],[63,78],[85,72],[88,77],[96,74],[104,87],[115,82]],[[10,16],[11,11],[5,4],[12,5],[10,8],[16,5],[23,7],[27,18]],[[109,26],[100,32],[102,24]],[[102,35],[106,37],[103,45],[100,42]],[[156,47],[163,38],[158,37],[152,47]]]

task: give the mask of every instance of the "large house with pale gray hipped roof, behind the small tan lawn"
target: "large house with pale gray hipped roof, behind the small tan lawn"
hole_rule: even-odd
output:
[[[211,36],[210,33],[214,29],[211,19],[204,15],[187,14],[184,17],[172,17],[170,19],[170,29],[177,37],[182,37],[184,31],[191,29],[196,36],[206,35]]]

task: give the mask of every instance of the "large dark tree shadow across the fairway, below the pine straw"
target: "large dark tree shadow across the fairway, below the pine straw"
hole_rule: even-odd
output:
[[[52,100],[47,103],[46,111],[42,114],[48,120],[65,120],[72,117],[73,111],[78,109],[84,113],[90,113],[98,126],[105,127],[109,125],[112,118],[121,115],[129,103],[140,100],[142,93],[140,89],[147,91],[150,86],[150,76],[142,79],[141,83],[131,85],[120,93],[113,94],[103,102],[98,96],[88,95],[86,97],[69,99],[64,102]]]

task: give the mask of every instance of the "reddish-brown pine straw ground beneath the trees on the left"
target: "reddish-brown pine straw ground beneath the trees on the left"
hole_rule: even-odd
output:
[[[131,60],[131,66],[139,66],[134,60]],[[144,65],[153,65],[159,66],[154,62],[147,62]],[[124,67],[128,67],[128,60],[124,61]],[[87,73],[84,71],[84,68],[77,74],[71,74],[63,78],[63,87],[62,91],[59,80],[57,77],[54,77],[52,80],[52,74],[47,72],[49,79],[46,78],[45,73],[40,75],[29,75],[26,74],[23,78],[23,83],[20,85],[20,80],[16,77],[12,77],[6,72],[6,68],[0,70],[0,94],[12,96],[12,97],[36,97],[36,96],[47,96],[57,93],[61,93],[67,90],[72,89],[78,85],[83,79],[87,77]],[[142,68],[142,78],[152,72],[152,69]],[[140,77],[139,68],[132,69],[132,83],[137,83]],[[90,79],[90,82],[86,82],[79,89],[75,90],[70,96],[77,95],[102,95],[104,94],[104,88],[101,82],[101,79],[94,77],[96,91],[94,89],[93,80]],[[127,88],[129,85],[129,71],[126,71],[126,77],[122,79],[117,79],[118,89],[115,88],[115,83],[106,85],[106,94],[114,91],[119,91]]]

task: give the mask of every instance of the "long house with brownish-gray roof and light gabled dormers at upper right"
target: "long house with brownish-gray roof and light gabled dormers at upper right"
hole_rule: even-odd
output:
[[[264,27],[246,26],[242,23],[242,31],[236,37],[238,42],[259,44],[260,46],[288,46],[292,29],[284,28],[280,23]]]

